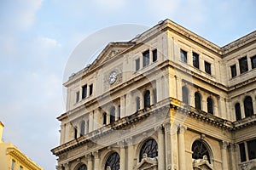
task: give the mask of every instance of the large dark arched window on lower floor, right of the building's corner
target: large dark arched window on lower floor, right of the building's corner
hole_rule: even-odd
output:
[[[203,159],[203,156],[207,156],[207,160],[211,163],[210,151],[207,144],[203,143],[201,140],[195,140],[192,144],[192,158],[193,159]]]

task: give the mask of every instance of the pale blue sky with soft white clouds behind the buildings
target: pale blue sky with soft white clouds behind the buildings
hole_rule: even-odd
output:
[[[222,47],[256,30],[255,7],[254,0],[2,0],[3,140],[45,170],[55,169],[50,150],[59,144],[55,118],[65,112],[67,64],[79,43],[95,32],[111,26],[152,27],[168,18]],[[74,65],[75,70],[83,65]]]

